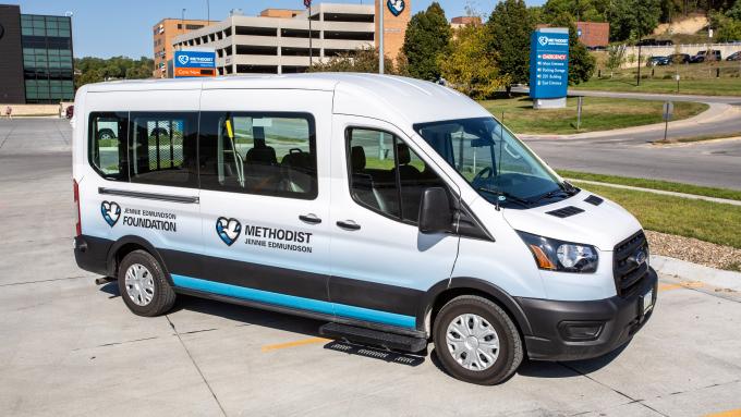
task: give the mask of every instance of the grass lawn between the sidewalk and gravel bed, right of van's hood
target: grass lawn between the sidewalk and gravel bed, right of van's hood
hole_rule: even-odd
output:
[[[741,248],[741,207],[575,182],[633,213],[647,230]]]

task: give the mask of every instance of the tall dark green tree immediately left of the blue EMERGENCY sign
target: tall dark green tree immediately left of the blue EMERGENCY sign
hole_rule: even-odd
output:
[[[497,52],[499,73],[512,84],[527,83],[530,77],[530,36],[534,29],[531,13],[523,0],[505,0],[497,4],[486,22],[489,49]]]

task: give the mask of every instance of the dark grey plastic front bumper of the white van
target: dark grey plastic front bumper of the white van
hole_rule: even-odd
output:
[[[527,355],[534,360],[576,360],[605,355],[628,343],[651,318],[658,279],[653,268],[627,297],[558,302],[517,297],[530,322]],[[652,308],[644,295],[653,290]]]

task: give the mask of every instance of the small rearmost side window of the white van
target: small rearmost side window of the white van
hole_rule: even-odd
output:
[[[90,113],[88,156],[93,168],[106,180],[129,181],[126,132],[129,114]]]

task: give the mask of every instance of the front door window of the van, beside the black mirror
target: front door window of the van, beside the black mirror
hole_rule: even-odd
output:
[[[445,182],[399,137],[388,132],[349,128],[350,193],[362,206],[417,223],[425,188]]]

